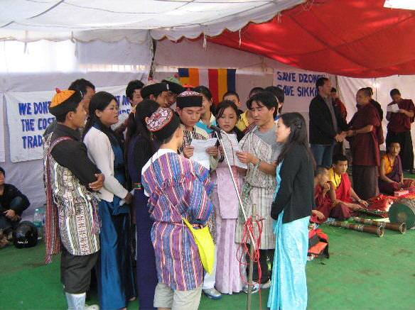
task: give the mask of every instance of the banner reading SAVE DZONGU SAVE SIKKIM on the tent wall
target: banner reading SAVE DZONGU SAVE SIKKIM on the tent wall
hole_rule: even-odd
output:
[[[329,74],[303,70],[274,70],[274,85],[284,90],[284,112],[308,112],[311,99],[317,94],[320,77],[333,79]],[[335,84],[333,84],[335,87]]]

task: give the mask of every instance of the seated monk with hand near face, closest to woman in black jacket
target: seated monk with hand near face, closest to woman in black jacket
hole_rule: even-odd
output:
[[[328,170],[326,167],[317,167],[314,172],[314,199],[316,209],[312,211],[310,221],[323,223],[327,218],[336,218],[344,221],[350,218],[350,210],[345,204],[333,204],[333,201],[327,195],[330,191],[328,181]]]

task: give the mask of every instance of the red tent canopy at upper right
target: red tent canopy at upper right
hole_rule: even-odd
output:
[[[415,13],[384,0],[313,1],[209,40],[305,70],[349,77],[415,74]],[[279,20],[280,19],[280,20]]]

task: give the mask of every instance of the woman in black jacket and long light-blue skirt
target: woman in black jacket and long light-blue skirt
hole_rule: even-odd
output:
[[[276,141],[276,189],[271,207],[276,245],[268,306],[271,310],[306,309],[308,222],[314,206],[315,162],[308,148],[306,121],[299,113],[282,114]]]

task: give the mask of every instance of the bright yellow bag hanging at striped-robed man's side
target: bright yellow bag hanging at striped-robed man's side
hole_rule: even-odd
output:
[[[202,262],[203,269],[208,273],[212,273],[213,266],[215,265],[215,243],[213,243],[212,235],[210,235],[209,226],[195,229],[185,218],[183,218],[183,223],[189,228],[198,246],[200,262]]]

